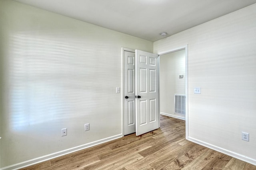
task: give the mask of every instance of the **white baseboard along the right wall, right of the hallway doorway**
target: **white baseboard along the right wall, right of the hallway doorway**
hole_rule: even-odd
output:
[[[249,158],[248,156],[244,156],[242,154],[238,154],[236,152],[233,152],[233,151],[230,151],[230,150],[227,150],[227,149],[223,149],[223,148],[217,147],[215,145],[212,145],[210,143],[206,143],[204,141],[200,141],[198,139],[194,139],[192,137],[188,137],[188,141],[191,141],[191,142],[197,143],[199,145],[202,145],[204,147],[216,150],[218,152],[221,152],[221,153],[224,153],[226,155],[232,156],[234,158],[240,159],[240,160],[242,160],[244,162],[248,162],[249,164],[256,165],[256,160],[253,159],[253,158]]]

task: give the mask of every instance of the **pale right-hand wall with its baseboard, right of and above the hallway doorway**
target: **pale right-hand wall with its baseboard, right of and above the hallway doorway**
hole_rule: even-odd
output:
[[[186,44],[188,138],[256,164],[256,4],[156,41],[154,53]]]

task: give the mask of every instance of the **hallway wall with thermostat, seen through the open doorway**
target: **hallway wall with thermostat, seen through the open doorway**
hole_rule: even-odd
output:
[[[179,78],[179,75],[184,75]],[[186,94],[185,50],[160,56],[160,113],[185,119],[174,113],[174,94]]]

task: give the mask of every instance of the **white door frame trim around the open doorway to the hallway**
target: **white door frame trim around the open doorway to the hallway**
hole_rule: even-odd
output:
[[[173,53],[175,51],[180,51],[180,50],[183,50],[183,49],[185,49],[185,81],[186,81],[186,86],[185,86],[185,88],[186,88],[186,90],[185,90],[185,95],[186,95],[186,110],[185,110],[186,116],[185,116],[185,119],[186,120],[185,120],[185,122],[186,122],[186,139],[188,140],[188,44],[180,46],[180,47],[176,47],[174,49],[169,49],[169,50],[166,50],[166,51],[162,51],[162,52],[159,52],[157,54],[158,54],[158,56],[161,56],[161,55],[164,55],[164,54]],[[160,59],[160,57],[159,57],[159,59]],[[160,66],[160,62],[159,62],[159,68],[160,67],[161,66]],[[160,81],[158,80],[158,83],[159,82]],[[160,93],[159,93],[159,95],[160,95]],[[159,103],[160,103],[160,98],[159,98]],[[159,105],[159,107],[160,107],[160,105]],[[159,108],[159,110],[160,110],[160,108]]]

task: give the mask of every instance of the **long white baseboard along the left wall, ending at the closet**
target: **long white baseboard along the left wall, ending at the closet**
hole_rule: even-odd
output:
[[[20,162],[18,164],[13,164],[13,165],[10,165],[10,166],[6,166],[6,167],[3,167],[3,168],[0,168],[0,170],[18,170],[20,168],[25,168],[25,167],[28,167],[28,166],[31,166],[31,165],[34,165],[34,164],[38,164],[40,162],[44,162],[46,160],[50,160],[50,159],[53,159],[53,158],[57,158],[59,156],[70,154],[70,153],[76,152],[78,150],[82,150],[82,149],[86,149],[86,148],[89,148],[89,147],[93,147],[95,145],[106,143],[108,141],[112,141],[112,140],[118,139],[120,137],[122,137],[122,134],[114,135],[112,137],[107,137],[105,139],[100,139],[98,141],[86,143],[84,145],[80,145],[80,146],[77,146],[77,147],[69,148],[69,149],[66,149],[66,150],[61,150],[59,152],[55,152],[55,153],[48,154],[48,155],[45,155],[45,156],[40,156],[38,158],[34,158],[34,159],[31,159],[31,160]]]

